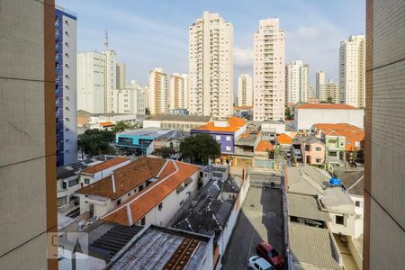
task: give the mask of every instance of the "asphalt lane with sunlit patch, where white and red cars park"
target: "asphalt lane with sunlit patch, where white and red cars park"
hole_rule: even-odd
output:
[[[222,260],[222,269],[247,269],[256,246],[267,241],[284,255],[283,195],[276,189],[250,187]],[[287,269],[287,267],[285,267]]]

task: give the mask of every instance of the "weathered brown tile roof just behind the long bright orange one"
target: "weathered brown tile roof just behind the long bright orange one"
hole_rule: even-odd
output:
[[[163,158],[142,157],[116,169],[113,173],[115,193],[112,188],[112,175],[94,184],[89,184],[76,191],[76,193],[97,195],[112,200],[118,199],[121,195],[155,177],[165,162],[166,159]]]

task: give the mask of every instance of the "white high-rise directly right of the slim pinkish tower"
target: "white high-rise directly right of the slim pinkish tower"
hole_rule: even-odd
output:
[[[293,61],[285,67],[285,90],[287,103],[306,102],[311,95],[310,65]]]

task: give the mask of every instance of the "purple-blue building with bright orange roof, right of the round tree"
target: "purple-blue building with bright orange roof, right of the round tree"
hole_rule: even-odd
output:
[[[221,163],[233,163],[235,153],[235,141],[246,131],[244,119],[236,116],[230,117],[227,121],[212,121],[190,131],[191,135],[208,134],[220,143]]]

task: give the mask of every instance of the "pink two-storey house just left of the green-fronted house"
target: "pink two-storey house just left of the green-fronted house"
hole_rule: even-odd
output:
[[[322,165],[325,161],[325,143],[315,136],[301,139],[303,164]]]

